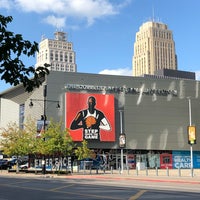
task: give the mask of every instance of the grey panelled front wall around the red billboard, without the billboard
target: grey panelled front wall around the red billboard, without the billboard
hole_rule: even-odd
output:
[[[109,91],[68,90],[66,84],[117,86],[139,88],[140,91],[175,90],[177,95],[137,94],[127,92],[110,92],[115,95],[115,128],[116,142],[91,143],[91,147],[117,148],[120,133],[119,110],[123,110],[123,129],[127,137],[127,148],[130,149],[188,149],[187,126],[189,125],[188,99],[192,102],[192,123],[200,130],[199,119],[199,82],[177,79],[153,79],[139,77],[109,76],[81,73],[53,73],[47,80],[49,98],[60,98],[62,111],[56,118],[65,118],[66,92],[98,92],[109,94]],[[75,104],[76,102],[74,102]],[[72,105],[73,106],[73,105]],[[199,140],[199,134],[197,134]],[[194,145],[194,149],[199,149]]]

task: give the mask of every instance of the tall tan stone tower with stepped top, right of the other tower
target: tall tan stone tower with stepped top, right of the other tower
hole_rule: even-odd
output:
[[[154,75],[160,69],[177,69],[172,31],[166,24],[148,21],[136,33],[133,76]]]

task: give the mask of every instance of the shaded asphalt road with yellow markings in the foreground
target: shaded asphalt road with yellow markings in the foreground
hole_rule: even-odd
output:
[[[0,200],[200,199],[200,183],[0,175]]]

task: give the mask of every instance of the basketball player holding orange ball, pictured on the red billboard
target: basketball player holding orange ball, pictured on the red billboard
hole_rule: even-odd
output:
[[[100,129],[111,130],[110,124],[103,112],[95,108],[96,99],[93,96],[88,98],[88,108],[81,110],[72,121],[70,129],[83,129],[85,140],[100,140]]]

